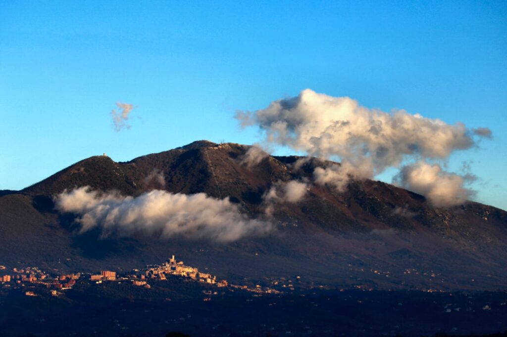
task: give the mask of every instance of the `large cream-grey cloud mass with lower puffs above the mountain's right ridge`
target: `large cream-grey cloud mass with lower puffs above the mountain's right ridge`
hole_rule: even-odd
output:
[[[243,128],[257,125],[264,131],[265,144],[340,160],[341,165],[315,170],[318,184],[343,190],[350,178],[373,178],[389,167],[401,167],[403,186],[425,194],[437,206],[460,203],[473,192],[463,187],[464,179],[440,166],[436,174],[417,174],[417,168],[431,166],[427,159],[446,160],[454,151],[492,137],[487,128],[467,129],[462,123],[451,125],[405,110],[387,113],[361,106],[349,97],[309,89],[265,109],[238,111],[236,118]],[[407,165],[414,160],[419,163]]]

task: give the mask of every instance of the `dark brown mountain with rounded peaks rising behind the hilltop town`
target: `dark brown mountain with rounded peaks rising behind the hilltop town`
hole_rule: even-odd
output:
[[[300,276],[302,284],[400,289],[496,289],[507,285],[507,212],[477,202],[436,208],[423,196],[379,181],[352,181],[346,191],[309,184],[298,202],[274,207],[275,230],[232,243],[101,238],[79,232],[54,197],[90,186],[139,196],[153,189],[229,200],[262,218],[263,196],[280,182],[311,181],[332,162],[265,155],[244,162],[249,146],[197,141],[128,162],[93,156],[21,191],[0,192],[0,264],[96,271],[131,269],[175,254],[219,277],[269,283]]]

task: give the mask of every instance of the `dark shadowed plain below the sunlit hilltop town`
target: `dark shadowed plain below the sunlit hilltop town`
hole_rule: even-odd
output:
[[[64,297],[3,297],[0,334],[40,336],[430,336],[507,330],[506,292],[300,291],[207,296],[204,285],[172,280],[151,289],[78,284]],[[203,301],[210,297],[210,301]],[[7,309],[9,308],[9,309]]]

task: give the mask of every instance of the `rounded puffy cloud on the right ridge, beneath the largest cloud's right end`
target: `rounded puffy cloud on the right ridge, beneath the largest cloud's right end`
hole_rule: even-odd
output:
[[[474,194],[463,187],[463,177],[443,171],[439,164],[424,161],[404,166],[396,181],[404,188],[426,196],[435,206],[458,205]]]

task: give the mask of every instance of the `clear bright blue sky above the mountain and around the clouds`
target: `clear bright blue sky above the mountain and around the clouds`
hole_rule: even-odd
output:
[[[489,127],[449,168],[472,160],[477,200],[507,209],[505,1],[3,1],[0,189],[102,152],[251,144],[235,110],[305,88]],[[118,101],[130,130],[112,127]]]

